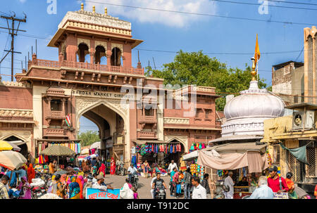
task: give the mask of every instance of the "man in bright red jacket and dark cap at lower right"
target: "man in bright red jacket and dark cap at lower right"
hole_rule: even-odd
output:
[[[268,178],[268,187],[270,187],[273,193],[286,193],[288,191],[288,186],[281,176],[278,176],[278,167],[272,166],[268,169],[270,172],[270,177]]]

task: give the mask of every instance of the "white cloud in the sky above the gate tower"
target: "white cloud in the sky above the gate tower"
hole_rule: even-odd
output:
[[[156,8],[168,11],[182,11],[189,13],[216,14],[216,4],[209,0],[94,0],[95,2],[117,4],[125,6],[137,6],[142,8]],[[120,15],[128,21],[159,23],[170,27],[186,27],[194,22],[206,20],[210,16],[172,13],[166,11],[153,11],[142,8],[129,8],[123,6],[111,6],[85,1],[85,11],[92,11],[96,6],[97,13],[104,13],[104,7],[108,8],[108,15]]]

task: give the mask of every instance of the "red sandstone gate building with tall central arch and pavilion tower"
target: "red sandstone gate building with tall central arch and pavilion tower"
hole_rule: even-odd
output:
[[[141,63],[132,67],[132,49],[141,43],[131,23],[106,8],[68,12],[48,44],[58,48],[58,60],[33,54],[17,82],[2,82],[0,139],[25,141],[37,157],[51,143],[78,143],[84,116],[99,128],[101,155],[128,164],[137,145],[178,143],[179,157],[192,143],[218,138],[215,88],[164,89]]]

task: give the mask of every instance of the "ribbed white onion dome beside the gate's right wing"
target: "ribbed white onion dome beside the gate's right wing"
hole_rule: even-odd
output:
[[[263,135],[263,121],[284,115],[285,103],[266,89],[259,89],[258,82],[250,82],[247,90],[232,98],[225,105],[226,122],[222,135]]]

